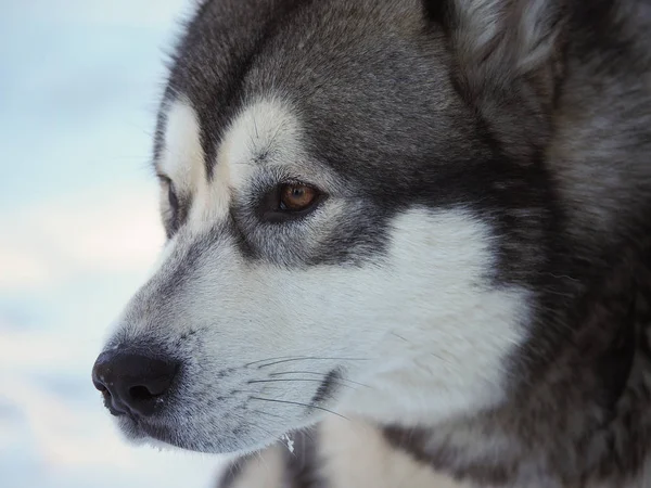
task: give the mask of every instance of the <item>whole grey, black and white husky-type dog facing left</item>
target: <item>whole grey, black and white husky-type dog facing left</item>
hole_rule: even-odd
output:
[[[651,1],[208,0],[153,163],[93,368],[130,439],[233,487],[651,486]]]

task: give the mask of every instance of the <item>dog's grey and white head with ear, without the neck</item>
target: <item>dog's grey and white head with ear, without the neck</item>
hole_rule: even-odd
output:
[[[503,398],[547,253],[557,23],[443,3],[199,9],[154,147],[168,241],[93,370],[131,438],[247,450]]]

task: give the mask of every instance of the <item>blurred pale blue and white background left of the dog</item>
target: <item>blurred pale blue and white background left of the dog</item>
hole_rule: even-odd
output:
[[[0,487],[208,487],[126,445],[90,381],[163,243],[149,167],[192,0],[0,0]]]

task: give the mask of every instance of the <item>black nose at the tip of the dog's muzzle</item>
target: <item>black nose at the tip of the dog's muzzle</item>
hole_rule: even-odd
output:
[[[120,349],[102,352],[92,368],[92,383],[114,415],[149,416],[165,403],[178,363]]]

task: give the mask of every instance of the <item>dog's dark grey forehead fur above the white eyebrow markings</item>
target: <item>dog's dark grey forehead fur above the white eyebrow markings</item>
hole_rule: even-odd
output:
[[[450,106],[460,104],[445,43],[419,1],[280,4],[207,2],[178,47],[166,98],[182,93],[193,106],[208,177],[227,130],[260,100],[283,101],[304,147],[340,174],[396,157],[405,160],[394,167],[413,166],[442,152],[442,140],[450,145],[450,127],[470,130]],[[163,112],[158,134],[167,133]],[[280,115],[277,126],[286,121]]]

